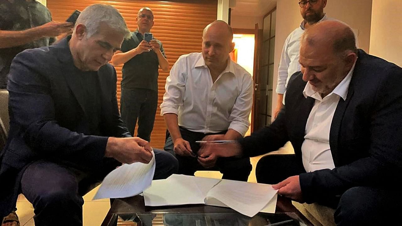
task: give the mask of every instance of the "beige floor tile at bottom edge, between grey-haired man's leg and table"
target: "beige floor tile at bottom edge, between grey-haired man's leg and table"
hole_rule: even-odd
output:
[[[83,207],[83,225],[100,225],[110,209],[109,201],[85,201]]]

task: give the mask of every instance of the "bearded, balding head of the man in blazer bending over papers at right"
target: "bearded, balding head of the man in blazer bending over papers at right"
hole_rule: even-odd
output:
[[[300,57],[303,80],[324,98],[351,71],[357,59],[355,35],[339,21],[323,21],[301,37]]]

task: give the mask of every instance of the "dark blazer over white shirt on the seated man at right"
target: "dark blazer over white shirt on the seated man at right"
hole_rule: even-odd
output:
[[[315,102],[304,97],[305,86],[301,72],[293,74],[277,119],[241,141],[247,154],[264,154],[290,141],[302,167],[301,145]],[[396,189],[393,182],[402,179],[401,86],[402,68],[359,49],[347,99],[340,98],[330,127],[335,168],[300,175],[306,202],[356,186]]]

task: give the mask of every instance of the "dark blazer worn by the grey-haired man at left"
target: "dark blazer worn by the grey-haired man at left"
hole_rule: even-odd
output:
[[[13,60],[8,75],[10,133],[1,152],[0,216],[15,207],[24,168],[47,159],[71,162],[96,171],[103,161],[109,136],[130,137],[121,121],[116,99],[116,71],[110,64],[98,70],[100,134],[89,134],[83,85],[76,78],[68,40],[28,49]]]

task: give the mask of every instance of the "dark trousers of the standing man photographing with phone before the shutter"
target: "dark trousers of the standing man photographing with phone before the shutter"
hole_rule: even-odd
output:
[[[137,136],[148,142],[151,141],[157,107],[158,91],[146,88],[121,89],[121,119],[126,124],[131,136],[134,136],[135,124],[138,119]]]

